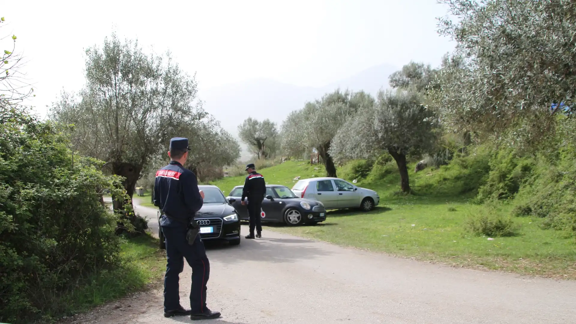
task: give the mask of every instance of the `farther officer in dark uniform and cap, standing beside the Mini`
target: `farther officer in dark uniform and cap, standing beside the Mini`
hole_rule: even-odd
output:
[[[260,219],[260,210],[262,210],[262,201],[266,195],[266,181],[264,176],[256,172],[256,167],[253,163],[246,165],[248,176],[244,181],[242,188],[242,205],[246,205],[244,197],[248,198],[248,216],[250,220],[250,235],[246,236],[247,239],[254,238],[254,228],[256,227],[256,237],[262,238],[262,220]]]

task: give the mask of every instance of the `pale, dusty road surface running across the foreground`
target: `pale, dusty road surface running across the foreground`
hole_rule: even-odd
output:
[[[156,210],[139,207],[138,212]],[[242,228],[244,233],[247,228]],[[213,323],[574,323],[576,282],[431,265],[266,231],[208,249]],[[190,268],[180,276],[188,306]],[[73,323],[176,323],[161,287]]]

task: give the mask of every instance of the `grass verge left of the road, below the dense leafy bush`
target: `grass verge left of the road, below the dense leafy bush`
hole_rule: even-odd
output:
[[[120,249],[122,266],[100,270],[78,282],[73,291],[65,292],[48,308],[44,322],[63,315],[77,314],[128,293],[141,291],[160,283],[166,257],[158,248],[158,239],[149,234],[126,239]]]

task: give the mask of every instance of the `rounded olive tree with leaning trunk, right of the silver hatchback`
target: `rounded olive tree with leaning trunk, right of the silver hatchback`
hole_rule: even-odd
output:
[[[400,188],[410,193],[406,156],[426,152],[438,137],[439,120],[415,91],[378,93],[372,106],[358,111],[334,137],[329,150],[337,160],[375,157],[388,152],[400,172]]]

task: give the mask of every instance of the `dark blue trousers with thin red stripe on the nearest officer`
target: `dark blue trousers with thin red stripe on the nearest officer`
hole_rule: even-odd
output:
[[[206,282],[210,277],[210,262],[200,235],[190,245],[186,240],[187,231],[185,227],[162,226],[168,259],[164,276],[164,311],[176,310],[180,306],[179,281],[185,258],[192,268],[190,307],[192,314],[199,314],[206,311]]]

